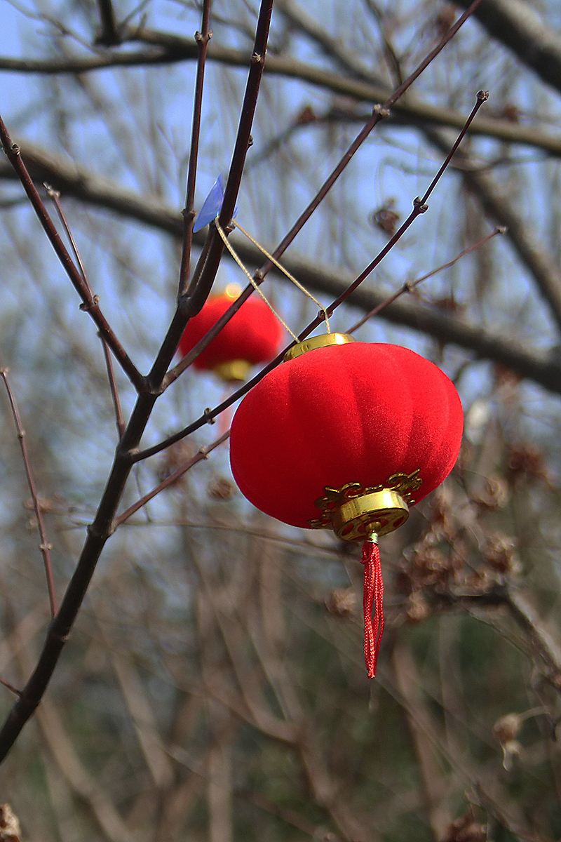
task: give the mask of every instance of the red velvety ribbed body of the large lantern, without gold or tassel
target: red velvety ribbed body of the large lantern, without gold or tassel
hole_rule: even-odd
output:
[[[267,374],[237,409],[230,462],[251,503],[306,527],[325,486],[420,468],[418,502],[452,470],[462,430],[458,392],[437,365],[398,345],[352,343]]]

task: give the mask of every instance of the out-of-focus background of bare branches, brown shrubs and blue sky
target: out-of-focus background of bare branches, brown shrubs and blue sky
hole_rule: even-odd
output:
[[[146,371],[175,308],[200,8],[114,0],[122,43],[108,45],[103,5],[3,0],[0,110],[38,184],[60,189],[103,312]],[[527,22],[527,55],[490,35],[484,15],[497,8]],[[392,90],[457,16],[441,0],[278,0],[241,225],[274,248],[378,101],[357,84]],[[212,4],[197,208],[230,164],[256,17],[244,0]],[[0,801],[21,839],[561,836],[561,83],[532,65],[542,38],[554,61],[553,0],[484,0],[286,255],[329,303],[423,194],[457,134],[453,115],[463,120],[478,89],[490,90],[486,129],[466,138],[429,211],[332,322],[345,331],[509,225],[357,331],[441,365],[466,415],[453,475],[381,541],[377,678],[368,682],[363,664],[357,547],[257,512],[220,445],[108,542],[50,688],[3,765]],[[19,402],[60,596],[114,456],[114,411],[95,328],[7,161],[0,213],[0,365]],[[241,235],[232,242],[243,248]],[[253,271],[261,261],[247,262]],[[226,255],[216,287],[234,280],[245,283]],[[294,331],[315,316],[281,276],[263,289]],[[117,381],[126,418],[135,396],[119,371]],[[156,404],[143,444],[229,390],[188,370]],[[0,675],[18,687],[50,616],[19,442],[8,401],[0,406]],[[123,509],[229,423],[136,466]],[[3,715],[12,704],[0,687]]]

